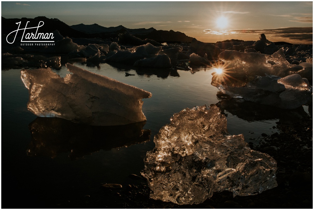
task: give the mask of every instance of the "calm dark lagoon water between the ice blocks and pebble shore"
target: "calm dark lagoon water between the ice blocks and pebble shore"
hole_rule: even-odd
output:
[[[199,68],[195,73],[184,70],[144,73],[144,70],[109,64],[100,64],[100,68],[79,63],[74,65],[151,92],[151,98],[143,99],[147,122],[136,128],[140,131],[143,126],[143,130],[150,130],[150,139],[138,140],[135,134],[135,139],[127,139],[130,143],[123,142],[129,135],[129,127],[104,128],[95,132],[90,127],[64,121],[57,123],[56,127],[49,126],[52,125],[49,119],[38,121],[27,110],[28,90],[21,81],[20,70],[2,71],[2,183],[10,183],[8,188],[3,185],[2,194],[7,193],[7,196],[17,199],[24,197],[29,202],[25,207],[30,207],[30,203],[53,207],[72,197],[98,191],[102,183],[127,184],[128,175],[139,174],[143,170],[146,152],[154,148],[154,135],[170,122],[174,113],[184,108],[220,102],[226,107],[228,132],[243,133],[246,142],[254,144],[258,140],[250,138],[279,132],[275,128],[276,122],[305,113],[301,107],[296,112],[276,111],[274,114],[269,107],[224,100],[217,95],[218,89],[210,84],[213,72],[210,68]],[[54,71],[64,77],[68,73],[66,70],[62,66]],[[125,72],[135,75],[126,77]],[[32,130],[30,127],[35,124],[37,130]],[[49,127],[53,129],[49,130]],[[102,136],[105,137],[102,139]],[[71,142],[72,138],[83,143],[78,146]],[[14,204],[7,207],[14,207]]]

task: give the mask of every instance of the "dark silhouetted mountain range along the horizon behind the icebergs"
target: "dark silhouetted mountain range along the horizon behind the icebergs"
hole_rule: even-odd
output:
[[[121,33],[129,33],[142,40],[151,39],[159,43],[163,42],[191,42],[192,37],[185,35],[184,33],[178,31],[166,31],[166,30],[156,30],[154,28],[149,29],[128,29],[122,25],[116,27],[104,27],[98,24],[77,24],[69,26],[59,19],[49,19],[44,16],[36,17],[34,19],[21,18],[21,19],[6,19],[1,17],[2,23],[2,34],[7,35],[14,30],[17,30],[18,25],[16,23],[21,21],[21,27],[24,28],[27,21],[29,21],[27,27],[37,27],[40,21],[44,22],[44,25],[40,28],[41,31],[45,33],[50,33],[52,31],[58,30],[59,33],[65,37],[70,38],[117,38]],[[35,33],[36,29],[33,29]],[[28,30],[29,31],[29,30]],[[18,31],[18,36],[23,35],[23,30]]]

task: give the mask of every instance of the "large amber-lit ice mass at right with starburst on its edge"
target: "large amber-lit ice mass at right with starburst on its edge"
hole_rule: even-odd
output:
[[[219,58],[225,64],[218,67],[220,72],[212,73],[211,84],[232,98],[281,109],[295,109],[312,102],[313,90],[308,80],[312,79],[313,64],[290,64],[283,49],[272,55],[226,50]]]

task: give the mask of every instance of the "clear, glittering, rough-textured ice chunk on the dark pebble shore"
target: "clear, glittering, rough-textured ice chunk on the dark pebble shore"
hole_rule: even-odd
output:
[[[216,105],[184,109],[154,137],[142,175],[150,197],[197,204],[215,191],[256,195],[277,186],[276,161],[247,147],[243,135],[227,133],[227,120]]]

